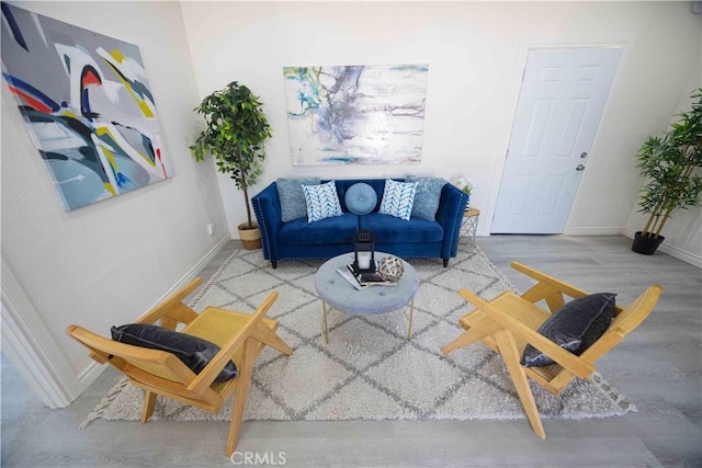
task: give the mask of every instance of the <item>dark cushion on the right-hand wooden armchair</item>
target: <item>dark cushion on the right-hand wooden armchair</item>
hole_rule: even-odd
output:
[[[573,354],[580,355],[607,331],[614,317],[613,293],[598,293],[570,303],[556,310],[539,333]],[[526,344],[522,355],[524,367],[543,367],[555,364],[546,354]]]

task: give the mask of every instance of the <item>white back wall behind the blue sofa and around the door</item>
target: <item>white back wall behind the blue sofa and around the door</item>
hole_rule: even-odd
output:
[[[200,96],[238,80],[261,95],[274,136],[253,193],[279,176],[469,176],[490,231],[530,46],[623,44],[567,233],[620,233],[639,184],[633,155],[699,87],[700,15],[689,2],[183,2]],[[428,62],[420,164],[293,167],[282,67]],[[692,77],[692,80],[691,80]],[[691,82],[697,82],[692,85]],[[241,194],[219,178],[229,229]],[[675,229],[675,228],[673,228]],[[670,241],[678,238],[670,236]],[[692,242],[694,243],[694,242]],[[702,256],[702,246],[682,249]]]

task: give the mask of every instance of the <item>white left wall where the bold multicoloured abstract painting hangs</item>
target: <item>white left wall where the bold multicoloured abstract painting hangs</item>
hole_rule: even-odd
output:
[[[192,274],[229,236],[211,164],[188,146],[199,98],[176,2],[24,2],[18,7],[136,44],[154,92],[172,179],[64,212],[2,83],[2,261],[76,376],[89,364],[64,332],[109,335]],[[206,224],[219,229],[208,236]],[[4,270],[3,270],[4,271]],[[3,284],[4,289],[4,284]],[[87,384],[87,383],[84,383]]]

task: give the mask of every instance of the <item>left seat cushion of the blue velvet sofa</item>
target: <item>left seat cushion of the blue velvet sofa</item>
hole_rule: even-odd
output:
[[[281,246],[324,246],[353,241],[359,228],[359,217],[351,213],[341,216],[307,222],[307,219],[293,219],[285,222],[278,233]]]

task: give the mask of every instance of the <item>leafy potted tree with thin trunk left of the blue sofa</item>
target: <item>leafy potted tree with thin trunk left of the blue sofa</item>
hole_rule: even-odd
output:
[[[190,147],[196,161],[207,152],[215,158],[217,170],[228,173],[244,192],[247,222],[238,226],[245,249],[260,249],[261,233],[251,218],[248,187],[262,171],[265,159],[263,142],[271,137],[271,126],[257,95],[233,81],[202,100],[194,109],[205,118],[205,129]]]

